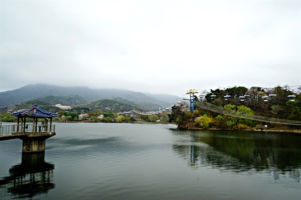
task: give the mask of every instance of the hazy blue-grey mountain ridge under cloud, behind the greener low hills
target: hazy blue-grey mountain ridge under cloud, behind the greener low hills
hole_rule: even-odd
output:
[[[158,110],[160,106],[170,104],[161,99],[159,100],[155,97],[147,96],[140,92],[132,92],[128,90],[90,89],[88,87],[62,87],[47,84],[32,84],[16,90],[1,92],[0,106],[24,103],[30,100],[39,99],[46,96],[64,97],[69,95],[81,96],[88,102],[100,99],[113,99],[119,97],[122,99],[132,101],[135,104],[148,104],[149,108],[151,107],[152,110]]]

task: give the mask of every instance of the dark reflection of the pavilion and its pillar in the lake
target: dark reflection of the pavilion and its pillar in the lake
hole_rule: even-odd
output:
[[[54,164],[44,161],[45,153],[23,153],[22,163],[10,168],[10,175],[0,179],[1,195],[32,198],[55,187]]]

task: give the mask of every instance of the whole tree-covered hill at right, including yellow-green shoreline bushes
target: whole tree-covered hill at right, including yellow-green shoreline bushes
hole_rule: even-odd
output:
[[[251,121],[246,118],[253,118],[258,115],[269,118],[289,119],[300,121],[301,119],[301,94],[294,93],[293,99],[288,95],[293,91],[288,87],[277,86],[275,88],[261,87],[232,87],[210,90],[205,94],[205,99],[196,100],[196,111],[188,112],[183,103],[172,107],[170,122],[178,124],[179,128],[200,127],[200,128],[230,128],[246,129],[255,127],[260,122]],[[226,98],[226,95],[231,96]],[[201,98],[200,98],[201,99]],[[223,111],[208,111],[202,109],[202,104],[212,103],[216,108],[221,106]],[[204,104],[204,105],[205,105]],[[217,112],[216,112],[217,111]],[[225,113],[223,113],[225,112]],[[241,118],[238,116],[244,116]],[[192,123],[193,122],[193,123]]]

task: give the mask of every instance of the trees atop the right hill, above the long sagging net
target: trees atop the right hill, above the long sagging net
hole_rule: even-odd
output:
[[[230,95],[231,98],[225,99],[224,96],[226,94]],[[206,100],[218,106],[225,106],[227,104],[244,105],[250,108],[255,115],[286,119],[292,112],[297,112],[299,99],[301,98],[300,94],[296,94],[295,101],[291,102],[287,97],[291,94],[292,91],[287,87],[277,86],[269,89],[255,86],[247,89],[235,86],[224,90],[211,89],[206,95]],[[212,99],[211,95],[216,95],[216,98]],[[267,98],[263,99],[262,97],[265,96]],[[239,97],[244,98],[240,99]]]

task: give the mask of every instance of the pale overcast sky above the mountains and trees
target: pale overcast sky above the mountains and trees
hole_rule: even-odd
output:
[[[300,1],[2,1],[1,85],[301,85]]]

